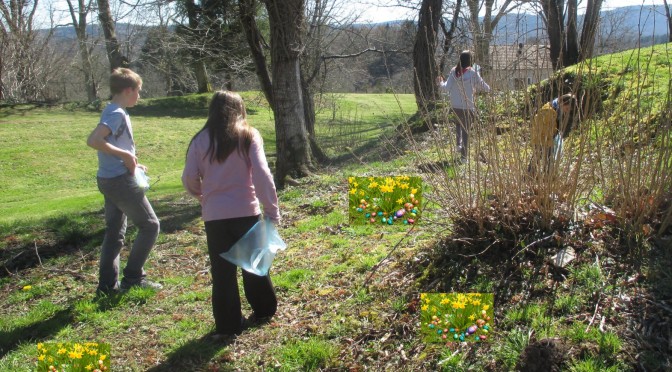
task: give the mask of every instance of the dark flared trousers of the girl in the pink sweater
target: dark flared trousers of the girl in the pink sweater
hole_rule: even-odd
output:
[[[212,314],[217,333],[239,334],[242,332],[243,314],[238,294],[238,267],[220,257],[259,221],[259,216],[228,218],[205,222],[208,254],[212,273]],[[243,289],[257,318],[275,314],[278,301],[271,283],[270,274],[258,276],[243,272]]]

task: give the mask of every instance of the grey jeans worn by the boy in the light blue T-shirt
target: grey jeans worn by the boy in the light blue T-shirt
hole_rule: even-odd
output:
[[[123,281],[128,285],[139,283],[145,277],[143,266],[159,236],[159,219],[145,192],[128,173],[114,178],[99,177],[98,190],[105,197],[105,238],[100,252],[98,289],[117,287],[119,252],[124,244],[127,217],[138,228],[138,235],[128,255]]]

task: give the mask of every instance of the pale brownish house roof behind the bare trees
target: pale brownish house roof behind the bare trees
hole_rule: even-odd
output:
[[[553,67],[548,45],[491,45],[493,70],[536,70]]]

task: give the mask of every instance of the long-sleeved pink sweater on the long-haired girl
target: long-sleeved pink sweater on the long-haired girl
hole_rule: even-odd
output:
[[[182,184],[201,200],[204,221],[256,216],[264,207],[264,216],[280,221],[278,196],[273,175],[264,154],[264,142],[256,129],[249,159],[234,150],[223,163],[210,163],[207,131],[199,133],[189,147],[182,172]],[[205,157],[205,159],[204,159]]]

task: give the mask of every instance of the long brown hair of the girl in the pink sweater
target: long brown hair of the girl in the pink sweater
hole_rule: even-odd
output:
[[[210,101],[208,120],[191,142],[205,130],[210,135],[210,145],[204,158],[209,157],[211,163],[223,163],[233,150],[248,156],[253,132],[247,124],[245,103],[238,93],[221,90],[215,92]]]

